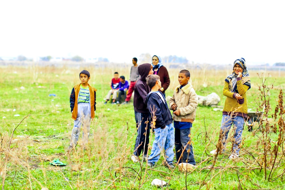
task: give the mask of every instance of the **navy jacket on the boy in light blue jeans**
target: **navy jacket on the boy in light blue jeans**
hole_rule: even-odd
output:
[[[158,95],[160,93],[160,95]],[[164,101],[161,99],[163,97]],[[155,128],[165,128],[166,125],[172,123],[173,118],[168,108],[166,99],[160,91],[150,92],[146,97],[148,111],[152,118],[156,117]],[[152,113],[153,111],[154,114]]]

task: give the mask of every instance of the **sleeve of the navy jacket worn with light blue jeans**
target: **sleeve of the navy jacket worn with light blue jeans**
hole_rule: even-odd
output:
[[[158,95],[157,95],[158,96]],[[156,117],[155,120],[155,128],[165,128],[165,122],[162,118],[162,112],[160,110],[160,105],[158,103],[158,99],[160,97],[156,97],[156,95],[152,95],[148,98],[147,108],[152,118]],[[154,112],[154,113],[153,113]]]

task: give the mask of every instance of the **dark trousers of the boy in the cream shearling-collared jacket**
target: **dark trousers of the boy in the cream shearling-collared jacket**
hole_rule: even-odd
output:
[[[175,129],[175,152],[176,152],[176,160],[178,162],[181,153],[185,148],[182,158],[180,158],[179,163],[188,163],[196,165],[195,159],[194,159],[194,153],[193,153],[193,147],[192,144],[187,144],[190,140],[190,137],[188,136],[190,134],[190,128],[189,129]],[[188,153],[188,150],[190,149],[190,152]],[[187,162],[186,162],[187,161]]]

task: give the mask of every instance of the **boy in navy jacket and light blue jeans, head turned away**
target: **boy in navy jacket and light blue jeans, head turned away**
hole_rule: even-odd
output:
[[[151,114],[152,120],[155,119],[154,135],[155,139],[152,145],[151,154],[147,160],[148,166],[153,167],[158,161],[162,149],[165,150],[166,163],[164,166],[174,168],[174,128],[172,116],[168,109],[167,102],[163,94],[158,91],[161,88],[161,82],[158,75],[148,75],[146,84],[151,88],[146,97],[146,105]]]

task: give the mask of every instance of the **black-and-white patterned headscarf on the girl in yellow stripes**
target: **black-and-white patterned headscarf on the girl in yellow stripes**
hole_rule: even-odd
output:
[[[247,70],[247,66],[245,65],[245,59],[240,58],[240,59],[235,60],[235,62],[233,63],[233,68],[235,67],[236,64],[241,66],[241,68],[243,69],[243,76],[241,78],[242,84],[249,86],[249,89],[250,89],[251,84],[250,84],[249,72]],[[230,88],[231,92],[237,93],[237,91],[236,91],[236,89],[237,89],[237,74],[235,73],[234,70],[233,70],[233,73],[230,74],[225,79],[225,81],[227,81],[229,83],[229,88]]]

